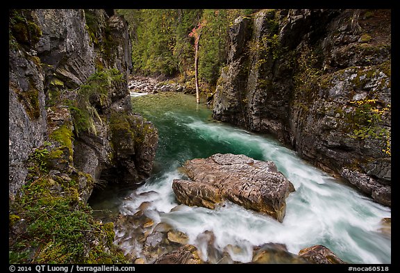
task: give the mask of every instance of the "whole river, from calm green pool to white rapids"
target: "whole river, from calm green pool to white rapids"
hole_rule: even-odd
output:
[[[284,244],[293,254],[324,245],[347,263],[391,263],[391,238],[381,231],[383,217],[391,217],[390,208],[313,167],[268,135],[216,122],[211,111],[204,104],[197,105],[193,96],[148,94],[132,97],[132,104],[135,113],[158,128],[153,174],[138,188],[114,186],[97,191],[89,204],[104,221],[144,210],[152,221],[149,225],[163,222],[185,233],[203,260],[212,261],[210,248],[199,238],[212,231],[213,247],[228,249],[231,259],[242,263],[251,261],[253,247],[269,242]],[[172,180],[185,177],[179,167],[185,160],[217,153],[245,154],[276,163],[296,189],[286,199],[282,223],[229,202],[215,210],[178,206]],[[133,226],[119,226],[116,242],[126,253],[133,251],[138,256],[140,244],[131,238],[135,235],[126,240],[130,229]]]

